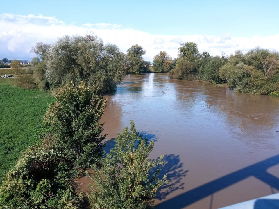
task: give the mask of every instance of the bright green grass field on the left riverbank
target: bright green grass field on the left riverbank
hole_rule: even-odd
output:
[[[51,93],[13,86],[15,78],[0,78],[0,182],[21,152],[36,142]],[[0,183],[1,184],[1,183]]]

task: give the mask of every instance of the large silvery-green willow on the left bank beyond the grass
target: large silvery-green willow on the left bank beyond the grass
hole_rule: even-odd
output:
[[[95,35],[66,35],[43,46],[38,43],[32,51],[43,58],[44,79],[53,87],[80,78],[99,92],[114,92],[121,82],[124,55],[115,44]]]

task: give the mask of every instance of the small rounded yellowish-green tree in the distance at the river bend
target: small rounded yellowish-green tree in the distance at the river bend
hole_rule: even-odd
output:
[[[158,73],[168,72],[169,66],[172,62],[173,61],[167,52],[160,51],[160,53],[155,55],[153,59],[154,70]]]

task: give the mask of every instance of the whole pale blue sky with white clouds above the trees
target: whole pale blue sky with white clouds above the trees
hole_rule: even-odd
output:
[[[2,1],[2,0],[1,0]],[[53,34],[38,34],[33,35],[24,28],[35,26],[57,25],[60,32],[58,37],[65,35],[62,33],[62,27],[67,27],[65,33],[74,35],[76,33],[84,34],[90,30],[104,39],[105,42],[115,42],[123,51],[128,45],[134,44],[136,38],[145,46],[146,50],[150,48],[150,53],[146,55],[146,59],[151,60],[157,51],[167,51],[172,56],[177,51],[177,45],[171,45],[171,40],[177,40],[173,43],[178,44],[179,41],[196,41],[201,45],[201,49],[212,51],[218,55],[220,51],[228,51],[242,49],[248,50],[248,47],[262,46],[264,48],[274,48],[278,50],[279,34],[279,1],[2,1],[1,5],[6,7],[0,12],[0,33],[4,33],[6,41],[10,41],[7,34],[10,31],[17,30],[17,36],[21,39],[26,38],[30,45],[36,41],[56,40],[55,32]],[[16,6],[15,6],[16,5]],[[14,18],[6,18],[6,14],[17,15],[17,24]],[[46,19],[28,18],[28,15],[38,17],[42,14]],[[4,15],[4,16],[3,16]],[[18,16],[20,15],[20,16]],[[50,22],[49,19],[54,18],[55,22]],[[2,21],[1,21],[2,18]],[[24,21],[19,20],[23,18]],[[7,26],[8,22],[13,22],[13,26]],[[62,22],[62,23],[61,23]],[[90,24],[84,25],[84,24]],[[102,27],[101,25],[103,24]],[[104,24],[108,27],[104,27]],[[115,25],[115,27],[113,27]],[[110,27],[109,27],[110,26]],[[13,27],[13,28],[12,28]],[[69,27],[72,30],[69,30]],[[19,30],[18,28],[22,28]],[[45,28],[47,30],[47,28]],[[106,31],[101,31],[106,30]],[[122,35],[119,32],[122,31]],[[127,30],[135,33],[125,33]],[[32,30],[31,30],[32,31]],[[115,33],[116,32],[116,33]],[[119,32],[119,33],[118,33]],[[12,32],[13,33],[13,32]],[[20,35],[19,35],[20,33]],[[28,35],[26,35],[28,33]],[[143,36],[140,34],[144,33]],[[25,35],[24,35],[25,34]],[[109,35],[105,35],[109,34]],[[113,37],[117,34],[118,37]],[[146,34],[149,34],[146,35]],[[49,35],[49,37],[47,37]],[[103,35],[103,37],[101,36]],[[126,43],[128,35],[134,35],[135,40],[130,39]],[[3,35],[2,35],[3,36]],[[33,36],[32,40],[28,37]],[[121,39],[122,36],[122,39]],[[195,38],[198,37],[199,39]],[[255,36],[258,37],[255,39]],[[274,37],[275,36],[275,37]],[[205,37],[205,38],[203,38]],[[213,37],[213,38],[212,38]],[[217,40],[219,37],[219,40]],[[259,39],[261,38],[261,40]],[[269,38],[267,38],[269,37]],[[272,43],[266,43],[267,40],[273,37],[274,46]],[[1,38],[1,35],[0,35]],[[110,40],[110,38],[112,40]],[[151,42],[149,39],[153,38]],[[266,39],[264,39],[266,38]],[[16,39],[14,35],[13,40]],[[148,39],[148,41],[146,40]],[[209,40],[210,39],[210,40]],[[157,41],[156,41],[157,40]],[[159,40],[159,41],[158,41]],[[160,41],[161,40],[161,41]],[[163,42],[163,41],[164,42]],[[205,41],[204,41],[205,40]],[[208,41],[209,40],[209,41]],[[17,40],[18,41],[18,40]],[[221,43],[225,41],[224,43]],[[19,42],[19,41],[18,41]],[[149,43],[147,43],[149,42]],[[229,43],[230,42],[230,43]],[[232,47],[232,43],[234,46]],[[239,43],[237,43],[239,42]],[[244,42],[249,42],[248,45],[243,45]],[[209,46],[207,44],[215,44]],[[258,43],[258,45],[257,45]],[[4,44],[0,41],[0,44]],[[161,45],[160,45],[161,44]],[[223,44],[222,46],[219,46]],[[230,44],[230,45],[228,45]],[[151,46],[152,45],[152,46]],[[218,47],[217,47],[218,45]],[[179,44],[178,44],[179,46]],[[207,48],[208,47],[208,48]],[[219,48],[218,50],[216,49]],[[243,47],[243,48],[239,48]],[[12,52],[12,48],[6,45],[0,49],[6,49],[7,55],[17,55]],[[151,50],[152,49],[152,50]],[[30,50],[30,49],[29,49]],[[157,50],[157,51],[156,51]],[[171,51],[172,50],[172,51]],[[152,52],[151,52],[152,51]],[[158,53],[157,52],[157,53]],[[18,53],[20,58],[28,58],[26,52]],[[177,54],[177,52],[176,52]],[[0,58],[5,56],[0,52]],[[23,57],[22,57],[23,56]],[[25,57],[24,57],[25,56]],[[12,58],[12,57],[10,57]]]

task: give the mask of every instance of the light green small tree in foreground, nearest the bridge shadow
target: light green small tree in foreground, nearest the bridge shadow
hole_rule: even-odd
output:
[[[138,144],[136,144],[138,142]],[[102,167],[93,165],[94,174],[87,193],[93,208],[151,208],[154,201],[151,198],[163,184],[168,183],[165,175],[158,179],[159,168],[149,178],[153,167],[162,165],[164,156],[151,161],[148,158],[153,150],[154,142],[136,132],[135,124],[131,121],[131,133],[125,127],[118,134],[116,145],[103,158]],[[87,173],[89,176],[89,174]]]

